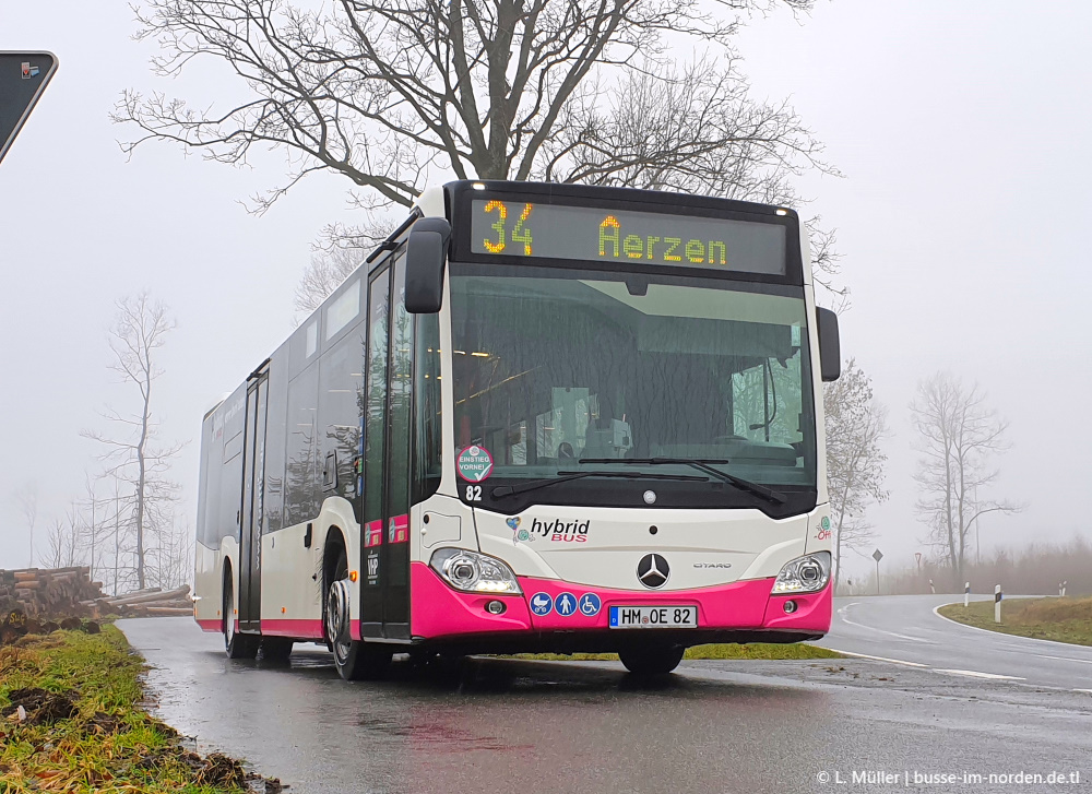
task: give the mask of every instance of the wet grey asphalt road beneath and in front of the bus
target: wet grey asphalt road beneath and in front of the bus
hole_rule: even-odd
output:
[[[889,629],[899,633],[911,615],[943,624],[924,603],[856,601],[900,609]],[[883,650],[871,655],[902,659],[897,638],[853,639],[842,623],[829,644],[871,642]],[[906,773],[922,791],[1092,790],[1092,694],[1031,678],[851,659],[687,662],[668,682],[641,685],[613,663],[470,660],[456,669],[395,663],[387,682],[349,684],[313,645],[277,667],[225,659],[221,638],[188,618],[119,626],[153,665],[159,716],[281,778],[290,794],[890,792],[906,787]],[[946,667],[988,672],[981,644],[960,648],[974,655],[943,657]],[[1080,784],[962,777],[1052,771],[1080,773]],[[875,782],[876,772],[898,779]],[[915,773],[957,778],[915,785]]]

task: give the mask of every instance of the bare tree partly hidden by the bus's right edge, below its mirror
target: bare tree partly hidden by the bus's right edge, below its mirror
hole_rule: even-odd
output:
[[[842,550],[858,548],[874,537],[865,509],[888,498],[883,489],[887,454],[880,446],[888,435],[887,408],[873,396],[871,379],[852,358],[838,380],[823,384],[822,401],[836,583]]]

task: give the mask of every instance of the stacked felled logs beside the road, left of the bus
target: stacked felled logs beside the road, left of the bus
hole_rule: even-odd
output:
[[[27,617],[155,617],[192,615],[189,585],[163,591],[147,588],[134,593],[109,596],[102,582],[91,581],[91,569],[24,568],[0,570],[0,614],[20,613]]]

